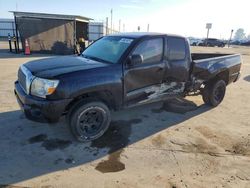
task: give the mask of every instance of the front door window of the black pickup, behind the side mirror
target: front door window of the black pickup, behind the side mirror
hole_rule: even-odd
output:
[[[143,56],[143,63],[159,62],[163,54],[163,39],[149,39],[141,42],[133,52]]]

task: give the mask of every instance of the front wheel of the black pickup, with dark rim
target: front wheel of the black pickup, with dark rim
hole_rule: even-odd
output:
[[[73,106],[67,115],[67,121],[78,141],[89,142],[100,138],[106,132],[111,115],[103,102],[84,100]]]

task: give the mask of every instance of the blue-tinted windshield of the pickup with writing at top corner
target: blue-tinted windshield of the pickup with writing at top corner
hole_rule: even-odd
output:
[[[85,58],[114,64],[132,42],[131,38],[103,37],[89,46],[82,55]]]

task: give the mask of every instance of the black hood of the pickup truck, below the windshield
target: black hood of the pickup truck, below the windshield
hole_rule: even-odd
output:
[[[76,56],[63,56],[30,61],[24,64],[34,76],[53,78],[58,75],[105,67],[108,64]]]

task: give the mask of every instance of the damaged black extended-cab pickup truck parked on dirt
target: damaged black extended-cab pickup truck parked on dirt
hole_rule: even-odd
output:
[[[240,55],[191,54],[181,36],[116,34],[80,56],[22,65],[14,92],[28,119],[56,122],[66,115],[73,135],[90,141],[107,130],[111,110],[199,94],[217,106],[240,68]]]

